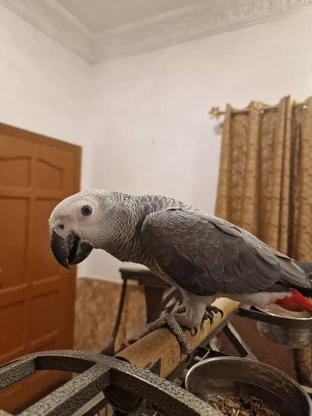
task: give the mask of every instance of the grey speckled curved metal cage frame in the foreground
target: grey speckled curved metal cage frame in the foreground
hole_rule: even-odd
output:
[[[20,416],[69,416],[100,392],[125,413],[135,410],[142,400],[146,400],[164,415],[220,415],[204,401],[149,370],[118,358],[88,352],[38,352],[11,361],[0,367],[0,389],[37,370],[80,374],[23,410]],[[0,410],[0,416],[12,415]]]

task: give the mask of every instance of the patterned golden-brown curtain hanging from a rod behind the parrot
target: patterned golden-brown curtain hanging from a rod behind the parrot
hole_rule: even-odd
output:
[[[216,216],[295,259],[312,261],[312,97],[300,105],[290,96],[276,107],[227,105]],[[311,361],[310,349],[295,354],[297,367]],[[309,368],[299,374],[304,382]]]

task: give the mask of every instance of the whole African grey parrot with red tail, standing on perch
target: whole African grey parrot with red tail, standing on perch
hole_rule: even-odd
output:
[[[66,268],[101,248],[177,286],[184,305],[149,324],[144,334],[168,325],[184,353],[191,349],[180,326],[198,327],[209,311],[217,311],[211,306],[217,297],[312,311],[299,292],[312,293],[310,263],[174,198],[88,189],[62,200],[49,227],[53,254]]]

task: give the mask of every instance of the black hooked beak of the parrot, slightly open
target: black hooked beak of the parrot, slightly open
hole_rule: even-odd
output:
[[[69,268],[70,264],[78,264],[85,260],[93,247],[85,241],[80,241],[80,238],[73,232],[70,232],[67,239],[64,239],[53,230],[51,249],[60,265]]]

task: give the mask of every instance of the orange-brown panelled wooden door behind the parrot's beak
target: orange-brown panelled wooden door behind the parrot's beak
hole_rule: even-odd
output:
[[[53,258],[48,218],[79,182],[80,147],[0,124],[0,363],[73,347],[76,271]]]

